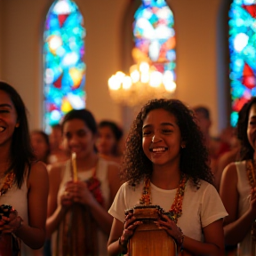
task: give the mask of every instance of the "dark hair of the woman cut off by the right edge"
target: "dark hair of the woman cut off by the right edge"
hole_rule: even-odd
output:
[[[237,122],[237,138],[241,142],[240,149],[240,160],[252,159],[254,149],[252,148],[248,137],[247,137],[247,126],[249,119],[249,112],[252,105],[256,103],[256,97],[252,97],[251,100],[247,101],[243,108],[239,111],[238,122]]]

